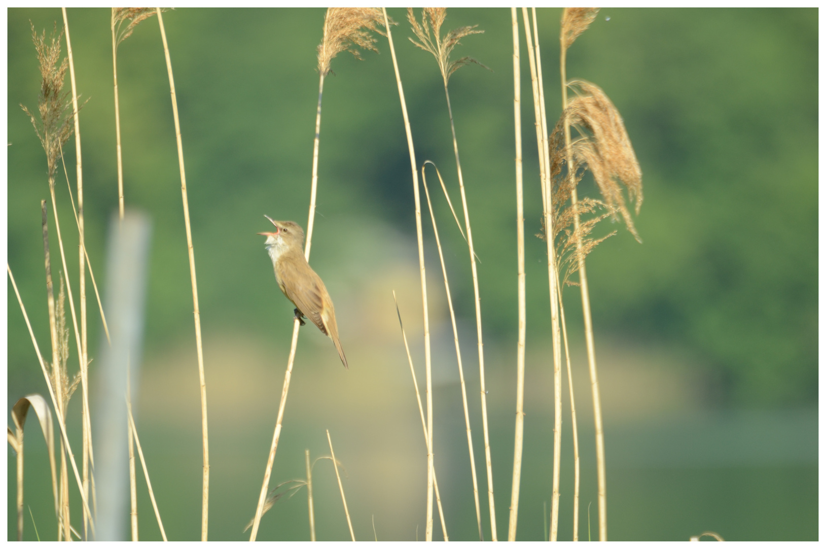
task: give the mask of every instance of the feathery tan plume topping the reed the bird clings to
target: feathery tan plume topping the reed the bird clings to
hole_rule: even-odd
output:
[[[395,23],[390,19],[389,24]],[[361,59],[358,48],[378,53],[370,31],[385,36],[379,26],[384,26],[384,13],[378,7],[328,7],[323,17],[323,40],[318,45],[318,72],[326,76],[332,59],[345,50],[356,59]]]

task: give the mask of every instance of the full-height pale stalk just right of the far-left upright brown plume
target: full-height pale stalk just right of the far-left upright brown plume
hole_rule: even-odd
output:
[[[82,423],[83,423],[83,492],[89,494],[89,464],[94,466],[94,456],[92,454],[92,420],[89,412],[89,354],[88,354],[88,337],[86,324],[86,237],[83,220],[83,160],[80,147],[80,117],[78,109],[78,87],[75,83],[74,77],[74,56],[72,53],[72,40],[68,34],[68,17],[66,15],[66,8],[63,9],[63,21],[66,30],[66,50],[68,54],[68,72],[72,82],[72,106],[74,118],[74,152],[75,164],[77,167],[78,177],[78,263],[79,263],[79,277],[78,284],[80,288],[80,340],[81,345],[78,346],[78,354],[80,357],[80,384],[82,390]],[[68,180],[67,180],[68,182]],[[68,277],[67,277],[68,284]],[[83,538],[88,539],[88,517],[83,514]]]

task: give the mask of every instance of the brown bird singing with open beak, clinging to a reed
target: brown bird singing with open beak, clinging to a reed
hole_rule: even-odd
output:
[[[275,224],[276,231],[258,234],[266,236],[264,246],[272,259],[272,266],[275,267],[275,279],[286,298],[295,305],[295,319],[304,325],[301,317],[309,318],[318,326],[321,333],[331,338],[344,367],[349,369],[347,357],[344,356],[341,342],[338,341],[338,326],[335,323],[332,299],[329,298],[327,287],[323,285],[320,276],[304,257],[304,229],[291,220],[272,220],[269,215],[264,217]]]

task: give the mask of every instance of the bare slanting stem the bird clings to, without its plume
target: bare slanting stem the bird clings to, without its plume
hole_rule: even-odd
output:
[[[315,115],[315,142],[313,145],[312,185],[309,193],[309,219],[307,220],[307,239],[306,243],[304,244],[304,257],[306,257],[307,262],[309,262],[309,250],[312,247],[312,233],[315,223],[315,197],[318,195],[318,148],[320,146],[321,140],[322,99],[323,74],[321,74],[318,83],[318,111]],[[278,418],[276,419],[275,432],[272,435],[272,445],[270,446],[269,456],[266,459],[266,470],[264,470],[261,494],[258,496],[257,508],[255,509],[255,518],[252,520],[252,532],[249,535],[249,541],[254,541],[257,538],[258,527],[260,527],[261,525],[261,517],[263,516],[263,506],[264,503],[266,503],[266,490],[269,488],[269,480],[272,475],[272,464],[275,462],[275,454],[276,451],[278,451],[278,441],[281,439],[281,428],[283,426],[284,420],[284,409],[286,408],[286,396],[290,392],[292,366],[295,364],[295,352],[298,348],[299,327],[299,320],[295,319],[292,327],[292,343],[290,343],[290,357],[286,363],[284,387],[281,390],[281,404],[278,405]]]

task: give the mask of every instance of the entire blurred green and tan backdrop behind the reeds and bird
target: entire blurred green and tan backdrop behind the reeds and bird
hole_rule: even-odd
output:
[[[254,513],[271,442],[292,307],[278,291],[255,233],[267,229],[265,213],[306,223],[323,13],[184,8],[164,14],[209,392],[210,540],[246,537],[241,531]],[[403,9],[389,15],[399,22],[394,40],[417,161],[434,161],[460,203],[435,60],[408,42],[412,32]],[[538,14],[550,124],[560,113],[560,15],[559,8]],[[7,16],[7,254],[42,349],[48,314],[39,201],[49,194],[45,157],[19,104],[34,108],[40,89],[29,21],[50,31],[62,17],[55,8],[15,8]],[[88,100],[80,115],[87,249],[102,289],[107,227],[117,207],[110,11],[70,9],[68,18],[78,92]],[[472,56],[492,70],[462,68],[450,80],[450,98],[481,260],[501,538],[512,477],[517,327],[510,13],[450,9],[444,28],[476,24],[484,34],[465,38],[454,55]],[[546,248],[531,236],[540,231],[540,191],[523,35],[521,43],[530,237],[518,539],[540,540],[542,503],[549,509],[551,498],[552,360]],[[311,326],[302,330],[272,484],[304,476],[304,448],[327,454],[329,428],[347,469],[344,487],[356,538],[373,538],[374,519],[379,540],[413,540],[423,538],[425,525],[426,450],[391,293],[398,292],[422,382],[413,188],[389,46],[383,38],[377,46],[380,54],[367,52],[363,61],[339,55],[324,87],[312,263],[335,300],[351,369],[343,370],[321,333]],[[588,258],[611,540],[686,540],[706,530],[728,540],[818,539],[817,52],[816,9],[605,8],[569,50],[568,78],[606,91],[624,117],[643,170],[645,200],[635,221],[643,244],[606,221],[601,231],[619,233]],[[155,18],[120,45],[118,68],[125,203],[153,221],[139,432],[168,536],[194,540],[200,526],[198,377],[177,150]],[[65,156],[74,182],[73,144]],[[76,286],[77,234],[62,175],[57,189]],[[594,192],[589,177],[582,192]],[[465,244],[437,190],[434,201],[460,318],[489,538],[473,286]],[[436,471],[450,538],[473,540],[455,348],[426,208],[422,219],[434,333]],[[8,291],[13,295],[11,284]],[[579,534],[586,539],[591,501],[596,535],[592,412],[577,289],[564,297],[582,444]],[[96,309],[90,302],[92,358],[101,345]],[[22,395],[47,392],[13,297],[7,336],[11,409]],[[69,365],[77,366],[76,357]],[[93,382],[94,361],[91,368]],[[572,537],[565,409],[560,540]],[[79,423],[79,395],[69,414]],[[40,537],[51,539],[48,464],[33,424],[26,437],[26,503]],[[78,428],[70,432],[79,447]],[[12,451],[7,455],[11,540],[15,465]],[[318,462],[314,480],[318,540],[346,539],[328,461]],[[305,502],[303,493],[279,502],[263,518],[258,538],[308,540]],[[77,519],[79,500],[73,503]],[[143,488],[139,503],[141,538],[159,539]],[[28,515],[25,538],[35,539]]]

